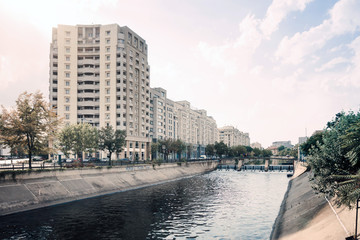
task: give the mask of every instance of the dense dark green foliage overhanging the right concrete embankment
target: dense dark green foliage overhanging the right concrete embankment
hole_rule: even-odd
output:
[[[360,197],[359,132],[360,113],[338,113],[309,151],[314,189],[337,196],[339,205],[351,207]]]

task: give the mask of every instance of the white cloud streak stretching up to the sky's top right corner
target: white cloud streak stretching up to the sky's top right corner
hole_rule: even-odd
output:
[[[351,33],[360,27],[360,1],[341,0],[330,10],[330,18],[293,37],[285,36],[275,53],[283,63],[298,65],[306,56],[324,47],[335,36]]]

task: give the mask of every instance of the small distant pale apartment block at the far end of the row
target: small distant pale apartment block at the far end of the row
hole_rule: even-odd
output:
[[[219,141],[223,141],[228,147],[250,146],[249,133],[243,133],[233,126],[219,128]]]

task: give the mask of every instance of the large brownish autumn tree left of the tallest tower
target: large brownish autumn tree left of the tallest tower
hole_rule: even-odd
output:
[[[49,151],[48,139],[55,135],[58,122],[40,92],[24,92],[16,100],[15,109],[2,107],[0,142],[11,149],[25,149],[31,169],[32,156],[40,151]]]

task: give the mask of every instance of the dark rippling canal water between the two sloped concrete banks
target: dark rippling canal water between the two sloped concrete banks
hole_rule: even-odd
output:
[[[0,239],[269,239],[287,173],[213,171],[0,217]]]

